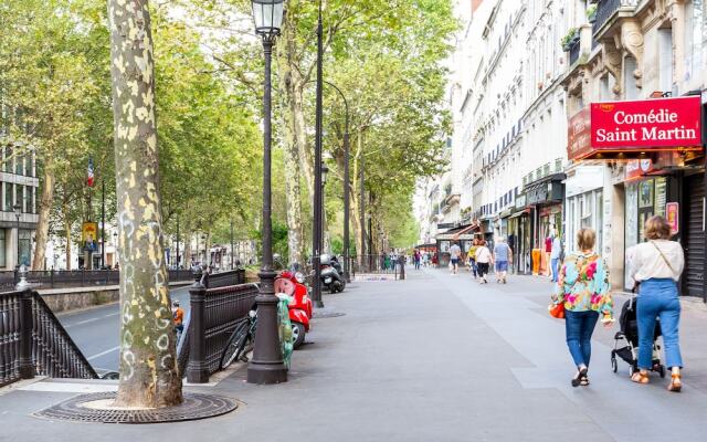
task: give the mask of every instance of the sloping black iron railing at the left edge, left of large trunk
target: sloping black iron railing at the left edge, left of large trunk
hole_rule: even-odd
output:
[[[35,375],[98,378],[36,292],[0,293],[0,386]]]

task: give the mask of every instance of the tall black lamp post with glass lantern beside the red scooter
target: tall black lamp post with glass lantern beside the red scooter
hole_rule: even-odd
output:
[[[277,296],[273,271],[273,224],[271,219],[271,143],[272,143],[272,85],[271,65],[275,39],[283,21],[284,0],[251,0],[255,32],[263,40],[265,80],[263,93],[263,263],[258,276],[257,328],[255,348],[247,367],[250,383],[278,383],[287,381],[287,368],[283,361],[277,333]]]

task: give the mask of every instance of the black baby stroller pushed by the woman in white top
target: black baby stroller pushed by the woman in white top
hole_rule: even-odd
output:
[[[629,376],[633,376],[634,372],[639,371],[639,322],[636,319],[636,304],[637,298],[635,296],[623,304],[621,316],[619,317],[621,332],[616,332],[614,336],[614,349],[611,350],[611,368],[614,372],[619,371],[619,364],[616,362],[616,356],[619,356],[629,364]],[[661,323],[656,319],[651,370],[657,371],[661,378],[665,378],[665,366],[661,364],[661,356],[658,354],[661,346],[656,343],[661,334]],[[620,347],[624,341],[625,346]]]

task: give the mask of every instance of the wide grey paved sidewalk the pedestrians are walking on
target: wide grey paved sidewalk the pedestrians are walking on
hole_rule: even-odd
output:
[[[0,441],[704,440],[705,371],[686,371],[682,394],[667,393],[657,378],[633,385],[625,364],[611,372],[610,332],[595,334],[592,386],[570,387],[563,324],[546,309],[547,281],[479,286],[466,273],[408,276],[325,296],[327,312],[346,315],[315,320],[310,344],[294,354],[289,382],[251,386],[239,371],[218,387],[192,388],[241,400],[235,413],[169,425],[50,422],[29,414],[74,392],[41,382],[70,391],[0,396]],[[707,332],[707,320],[690,316],[685,324],[693,320],[684,335]],[[688,367],[705,358],[700,338],[685,337]]]

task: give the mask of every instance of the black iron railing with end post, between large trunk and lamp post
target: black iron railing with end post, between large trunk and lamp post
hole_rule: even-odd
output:
[[[245,272],[238,274],[242,274],[244,282]],[[189,382],[205,383],[220,369],[231,334],[247,319],[258,293],[255,284],[217,286],[214,280],[223,281],[221,275],[204,274],[189,290],[191,308],[177,357],[179,372],[186,372]]]

